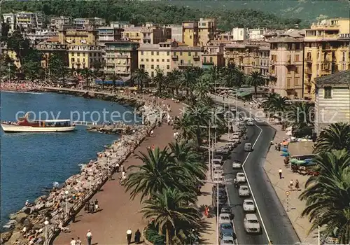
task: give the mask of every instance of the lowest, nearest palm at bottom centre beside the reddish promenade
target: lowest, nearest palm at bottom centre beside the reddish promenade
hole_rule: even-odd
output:
[[[198,225],[200,214],[193,205],[196,197],[193,193],[183,193],[176,189],[164,189],[156,193],[153,199],[145,200],[141,209],[146,219],[154,219],[160,234],[165,230],[166,244],[171,244],[181,223]]]

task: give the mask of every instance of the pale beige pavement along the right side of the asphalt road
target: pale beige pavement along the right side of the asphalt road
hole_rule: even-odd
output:
[[[216,100],[218,102],[232,104],[236,102],[235,99],[223,99],[223,97],[216,97]],[[253,109],[251,105],[244,104],[244,102],[241,102],[239,100],[237,101],[237,106],[246,109],[246,111],[251,113],[252,116],[256,116],[261,120],[265,120],[267,122],[267,118],[265,118],[265,113],[263,113],[262,109]],[[281,131],[281,125],[276,125],[274,123],[269,123],[269,125],[274,127],[276,130],[274,142],[281,142],[283,139],[288,138],[288,136],[286,136],[286,132]],[[279,168],[282,169],[283,179],[279,179]],[[301,213],[305,208],[305,202],[298,199],[300,193],[302,193],[302,190],[304,190],[304,183],[307,181],[307,179],[309,179],[309,176],[302,176],[300,174],[293,173],[289,168],[286,168],[283,164],[283,157],[281,157],[281,152],[275,151],[274,147],[271,147],[267,153],[264,169],[267,176],[269,177],[269,180],[271,181],[274,190],[276,191],[277,196],[279,197],[279,200],[286,210],[286,191],[290,191],[288,188],[289,181],[293,180],[294,183],[296,179],[299,181],[300,190],[294,189],[290,191],[290,195],[288,197],[289,211],[286,213],[288,214],[288,218],[290,219],[290,222],[297,232],[300,241],[305,244],[317,244],[317,232],[312,232],[309,235],[307,234],[309,228],[311,228],[311,223],[309,223],[308,218],[301,217]]]

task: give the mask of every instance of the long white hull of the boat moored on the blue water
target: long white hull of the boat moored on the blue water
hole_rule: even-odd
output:
[[[69,127],[31,127],[31,126],[19,126],[8,125],[1,123],[3,132],[6,133],[20,133],[20,132],[71,132],[76,129],[75,126]]]

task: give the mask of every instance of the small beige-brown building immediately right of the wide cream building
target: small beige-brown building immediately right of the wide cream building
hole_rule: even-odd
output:
[[[204,46],[202,53],[202,68],[206,69],[210,66],[225,66],[223,57],[225,44],[218,41],[210,41]]]

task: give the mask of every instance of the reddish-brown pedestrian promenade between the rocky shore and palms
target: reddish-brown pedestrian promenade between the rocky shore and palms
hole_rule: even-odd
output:
[[[151,99],[145,96],[145,99]],[[158,99],[158,103],[162,103],[162,99]],[[164,100],[165,104],[169,104],[172,108],[172,116],[179,115],[182,104],[172,102],[172,100]],[[159,146],[164,148],[174,139],[172,126],[163,123],[161,127],[156,127],[153,137],[148,137],[136,149],[135,153],[146,153],[146,148]],[[130,165],[141,165],[141,160],[135,155],[130,155],[124,163],[127,168]],[[102,187],[102,191],[94,195],[92,200],[99,200],[101,211],[95,214],[85,214],[80,211],[76,216],[76,223],[69,224],[70,233],[61,233],[54,241],[54,244],[69,244],[71,238],[80,237],[83,244],[86,243],[87,230],[92,232],[92,244],[126,244],[126,231],[130,228],[134,233],[137,229],[142,229],[147,225],[148,221],[142,218],[139,213],[141,210],[140,200],[137,197],[134,201],[130,201],[129,193],[125,193],[125,188],[118,183],[120,173],[113,175],[112,181],[107,181]],[[143,238],[142,238],[143,239]],[[142,241],[141,239],[141,241]],[[132,241],[134,237],[132,237]]]

